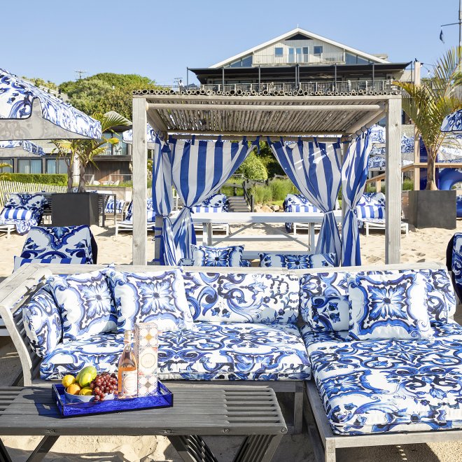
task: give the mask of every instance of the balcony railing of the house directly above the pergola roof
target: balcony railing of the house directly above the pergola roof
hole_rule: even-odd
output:
[[[185,90],[186,94],[202,94],[221,92],[221,94],[291,94],[301,92],[308,94],[337,94],[337,93],[358,93],[358,94],[389,94],[400,90],[393,84],[393,80],[342,80],[342,81],[318,81],[295,83],[232,83],[222,85],[201,85],[197,90]],[[188,93],[189,92],[189,93]]]

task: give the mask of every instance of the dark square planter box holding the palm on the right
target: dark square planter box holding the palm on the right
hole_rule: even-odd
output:
[[[409,224],[416,228],[456,228],[456,190],[409,191]]]

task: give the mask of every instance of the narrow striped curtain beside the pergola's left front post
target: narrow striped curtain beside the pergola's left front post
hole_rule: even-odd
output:
[[[155,137],[153,156],[153,211],[162,216],[162,237],[160,238],[160,265],[176,265],[176,248],[172,232],[172,151],[169,146]],[[156,234],[159,230],[155,230]]]

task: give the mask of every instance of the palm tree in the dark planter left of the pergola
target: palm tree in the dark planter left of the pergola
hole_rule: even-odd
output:
[[[117,113],[93,113],[92,118],[99,120],[101,123],[102,133],[112,132],[113,127],[120,125],[129,125],[127,119],[119,116]],[[72,189],[72,170],[73,162],[77,159],[80,163],[80,174],[78,181],[78,193],[85,191],[85,169],[88,164],[94,164],[94,156],[104,153],[106,143],[118,144],[119,140],[113,138],[100,138],[100,139],[55,139],[53,143],[57,147],[57,154],[64,157],[67,165],[67,190]]]

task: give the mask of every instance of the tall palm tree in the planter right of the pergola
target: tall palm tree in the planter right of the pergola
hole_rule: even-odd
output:
[[[402,98],[402,107],[416,126],[417,136],[422,137],[426,147],[427,187],[437,190],[435,183],[435,161],[446,133],[440,131],[444,117],[462,108],[461,99],[454,90],[462,83],[460,62],[462,48],[452,48],[437,60],[433,77],[421,85],[413,82],[396,82],[407,93]]]

